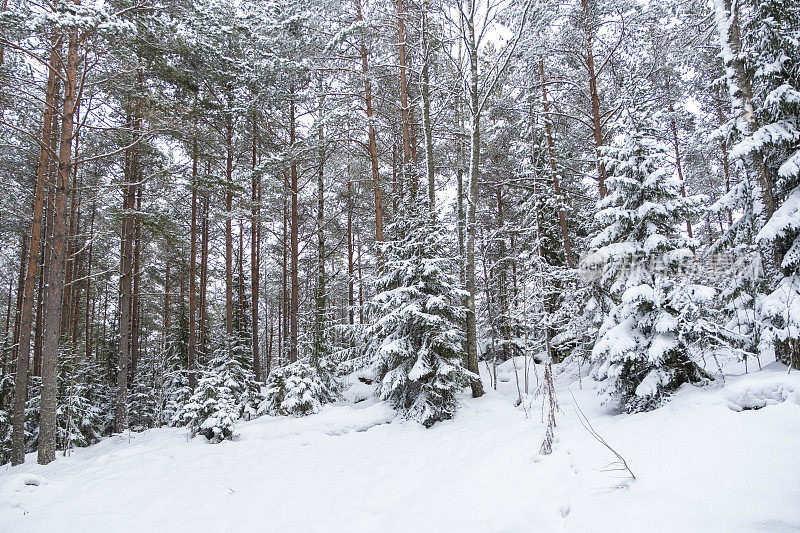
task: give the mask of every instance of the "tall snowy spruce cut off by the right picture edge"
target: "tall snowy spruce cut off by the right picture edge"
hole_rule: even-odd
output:
[[[774,247],[780,274],[757,306],[759,352],[800,368],[800,8],[786,0],[754,3],[745,43],[755,69],[758,129],[733,152],[757,153],[774,180],[775,212],[756,235]]]

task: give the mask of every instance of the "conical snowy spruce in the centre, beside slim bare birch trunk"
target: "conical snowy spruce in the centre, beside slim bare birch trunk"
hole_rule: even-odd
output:
[[[366,350],[381,399],[430,427],[453,417],[456,394],[472,378],[462,366],[465,293],[424,206],[406,208],[386,233]]]

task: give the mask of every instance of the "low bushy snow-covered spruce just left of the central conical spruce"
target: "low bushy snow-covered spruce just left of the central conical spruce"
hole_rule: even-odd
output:
[[[331,370],[322,364],[297,361],[273,370],[264,387],[258,413],[305,416],[339,398]]]

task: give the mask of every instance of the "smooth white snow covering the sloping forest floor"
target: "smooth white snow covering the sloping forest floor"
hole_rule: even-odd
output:
[[[48,466],[31,455],[0,470],[0,531],[800,530],[797,373],[773,364],[618,415],[590,379],[580,388],[574,368],[559,370],[546,457],[541,400],[528,417],[514,406],[509,362],[499,391],[465,396],[432,429],[369,399],[241,423],[235,442],[155,429]],[[635,481],[605,470],[615,457],[576,402]]]

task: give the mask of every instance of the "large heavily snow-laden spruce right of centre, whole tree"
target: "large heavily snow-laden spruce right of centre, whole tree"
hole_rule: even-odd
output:
[[[608,195],[598,203],[589,258],[602,267],[595,290],[614,302],[592,350],[594,376],[625,411],[657,407],[666,393],[703,376],[689,356],[692,321],[680,320],[687,292],[675,275],[692,257],[677,228],[700,199],[681,197],[643,122],[624,124],[625,134],[606,150]],[[691,293],[707,297],[708,290]]]

